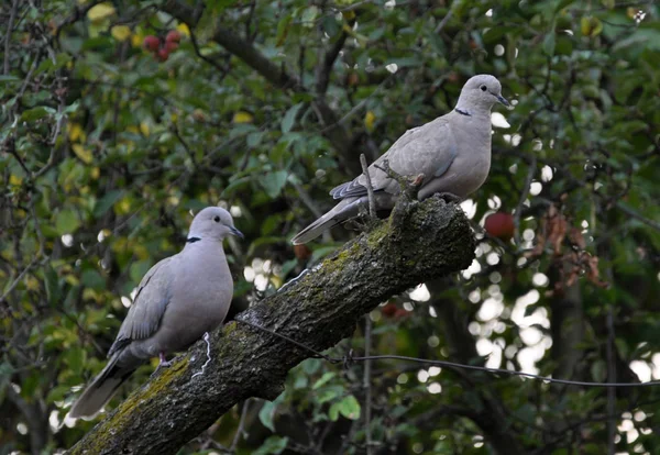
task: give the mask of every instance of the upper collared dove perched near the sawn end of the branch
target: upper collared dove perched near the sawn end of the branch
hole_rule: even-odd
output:
[[[424,175],[419,200],[435,193],[463,199],[476,191],[491,169],[491,109],[496,102],[509,106],[499,81],[491,75],[474,76],[463,86],[452,112],[400,136],[369,167],[376,209],[392,209],[400,193],[399,184],[378,169],[385,159],[399,175]],[[336,187],[330,195],[341,202],[298,233],[292,240],[294,245],[307,243],[355,217],[360,206],[367,203],[366,178],[361,175]]]

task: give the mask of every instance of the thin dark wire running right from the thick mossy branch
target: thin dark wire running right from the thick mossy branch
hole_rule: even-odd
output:
[[[326,354],[322,354],[322,353],[316,351],[315,348],[305,345],[304,343],[297,342],[296,340],[293,340],[286,335],[283,335],[282,333],[274,332],[270,329],[263,328],[257,324],[253,324],[252,322],[248,322],[242,319],[237,319],[235,321],[240,322],[242,324],[245,324],[245,325],[250,325],[251,328],[261,330],[262,332],[266,332],[272,335],[278,336],[282,340],[286,340],[287,342],[293,343],[296,346],[301,347],[302,349],[312,353],[314,354],[312,357],[315,357],[315,358],[322,358],[327,362],[330,362],[331,364],[344,364],[344,366],[350,365],[352,362],[404,360],[404,362],[416,362],[416,363],[425,364],[425,365],[438,365],[438,366],[443,366],[443,367],[449,367],[449,368],[472,369],[472,370],[477,370],[477,371],[486,371],[486,373],[494,373],[494,374],[502,374],[502,375],[509,375],[509,376],[520,376],[520,377],[525,377],[525,378],[529,378],[529,379],[543,380],[549,384],[563,384],[563,385],[568,385],[568,386],[616,387],[616,388],[660,386],[660,380],[651,380],[648,382],[590,382],[590,381],[582,381],[582,380],[556,379],[556,378],[550,378],[547,376],[534,375],[531,373],[516,371],[516,370],[503,369],[503,368],[488,368],[488,367],[482,367],[482,366],[477,366],[477,365],[465,365],[465,364],[459,364],[459,363],[449,362],[449,360],[432,360],[432,359],[427,359],[427,358],[408,357],[405,355],[387,354],[387,355],[370,355],[370,356],[364,356],[364,357],[353,357],[352,349],[349,353],[349,355],[346,355],[345,357],[336,358],[336,357],[330,357]]]

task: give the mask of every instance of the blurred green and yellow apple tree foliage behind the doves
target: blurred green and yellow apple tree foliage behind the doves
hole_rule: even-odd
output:
[[[660,379],[654,2],[7,0],[0,21],[1,453],[91,428],[67,410],[191,212],[221,202],[246,234],[228,247],[240,311],[353,236],[289,243],[360,154],[449,112],[480,73],[515,108],[495,108],[491,175],[463,203],[477,258],[393,296],[332,354]],[[512,240],[480,228],[495,211]],[[180,453],[658,453],[659,401],[657,386],[310,359]]]

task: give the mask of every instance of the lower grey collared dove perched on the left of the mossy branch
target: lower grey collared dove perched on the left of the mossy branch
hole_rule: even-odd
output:
[[[110,360],[72,407],[72,418],[91,418],[146,359],[182,351],[222,323],[233,280],[222,249],[228,235],[243,234],[231,214],[207,207],[193,220],[184,249],[153,266],[142,278]]]

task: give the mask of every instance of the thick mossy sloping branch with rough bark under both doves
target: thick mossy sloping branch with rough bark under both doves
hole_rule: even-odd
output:
[[[327,349],[388,297],[468,267],[474,238],[461,209],[430,198],[400,202],[389,220],[346,243],[296,282],[238,319]],[[249,397],[275,399],[310,353],[232,322],[198,342],[95,426],[69,454],[173,454]]]

